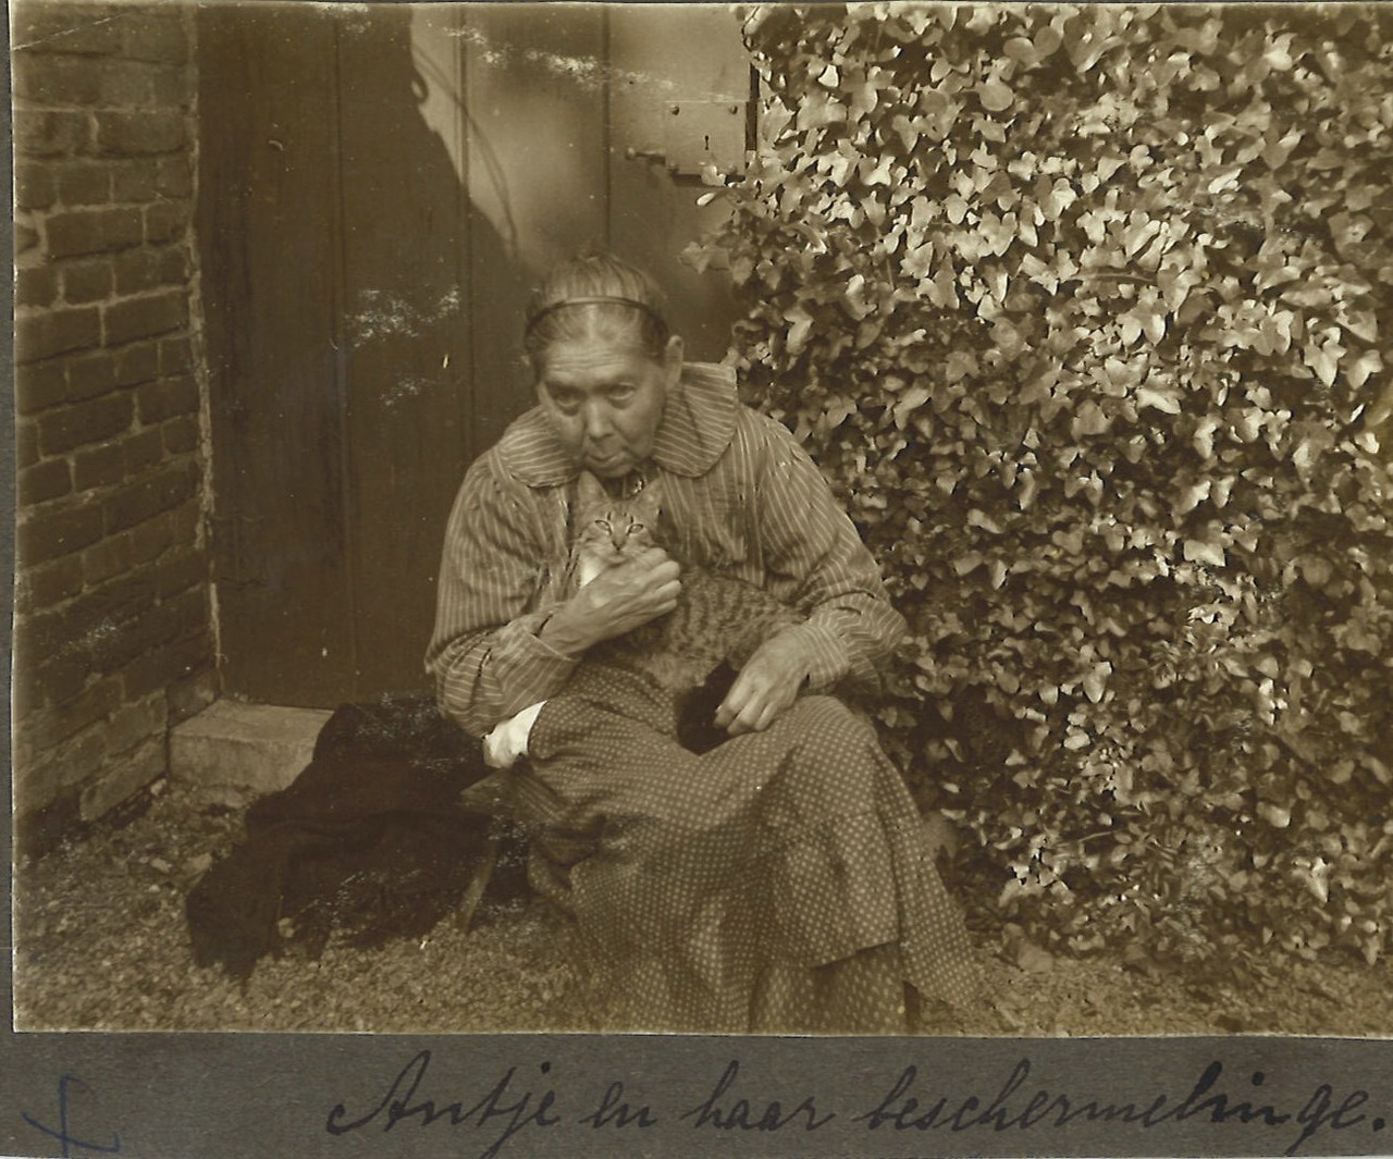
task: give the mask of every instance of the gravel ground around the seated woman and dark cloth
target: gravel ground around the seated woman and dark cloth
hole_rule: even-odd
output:
[[[156,786],[149,808],[21,866],[15,1027],[24,1031],[592,1029],[567,933],[540,903],[488,905],[419,942],[262,961],[241,985],[195,967],[184,896],[241,830],[235,800]],[[1056,958],[1018,931],[975,935],[995,1009],[971,1034],[1393,1035],[1393,964],[1273,960],[1247,982]]]

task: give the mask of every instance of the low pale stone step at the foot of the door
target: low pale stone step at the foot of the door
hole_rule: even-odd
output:
[[[249,795],[288,786],[309,763],[327,709],[215,701],[170,731],[170,780]]]

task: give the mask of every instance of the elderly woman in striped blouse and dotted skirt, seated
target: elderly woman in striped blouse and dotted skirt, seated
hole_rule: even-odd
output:
[[[515,770],[534,880],[575,919],[606,1028],[942,1029],[975,996],[961,917],[872,729],[829,692],[875,684],[903,620],[826,482],[734,375],[683,361],[656,287],[607,256],[556,269],[528,311],[538,405],[465,475],[426,663],[483,736],[542,703]],[[660,481],[673,556],[805,617],[755,651],[695,755],[670,698],[588,649],[673,610],[651,547],[575,588],[582,469]]]

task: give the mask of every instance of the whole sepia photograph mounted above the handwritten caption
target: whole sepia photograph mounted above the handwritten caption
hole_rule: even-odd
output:
[[[10,32],[18,1036],[1393,1036],[1393,11]]]

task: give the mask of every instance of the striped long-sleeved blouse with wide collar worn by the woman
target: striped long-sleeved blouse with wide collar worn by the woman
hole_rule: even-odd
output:
[[[758,584],[808,616],[812,691],[875,681],[904,634],[880,573],[793,435],[737,400],[734,372],[687,364],[641,468],[662,478],[671,554]],[[446,528],[426,669],[475,736],[566,684],[575,656],[536,632],[564,591],[577,464],[540,412],[468,469]]]

